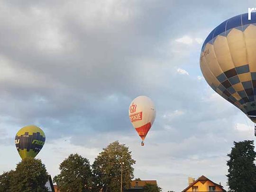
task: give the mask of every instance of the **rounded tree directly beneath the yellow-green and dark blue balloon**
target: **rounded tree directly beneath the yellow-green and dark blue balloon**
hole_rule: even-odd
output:
[[[11,174],[12,192],[47,192],[46,182],[49,175],[40,159],[26,158],[17,164]]]

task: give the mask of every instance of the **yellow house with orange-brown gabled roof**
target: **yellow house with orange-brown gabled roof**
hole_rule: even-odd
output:
[[[189,186],[182,192],[226,192],[223,186],[202,175],[197,180],[189,177]]]

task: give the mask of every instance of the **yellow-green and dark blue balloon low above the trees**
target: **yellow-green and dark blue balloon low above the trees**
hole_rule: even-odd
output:
[[[21,159],[35,158],[46,141],[45,133],[36,125],[21,128],[15,136],[15,145]]]

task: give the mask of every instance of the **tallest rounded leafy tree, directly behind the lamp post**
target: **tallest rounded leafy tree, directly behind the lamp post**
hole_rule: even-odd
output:
[[[118,141],[110,143],[97,156],[93,165],[95,190],[102,189],[103,192],[119,192],[122,186],[128,188],[134,177],[132,167],[135,164],[131,151]]]

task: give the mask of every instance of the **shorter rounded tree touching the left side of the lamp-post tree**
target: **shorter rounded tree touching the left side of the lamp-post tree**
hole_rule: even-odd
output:
[[[91,167],[88,159],[77,153],[71,154],[60,164],[60,174],[54,177],[54,182],[61,192],[90,192]]]

